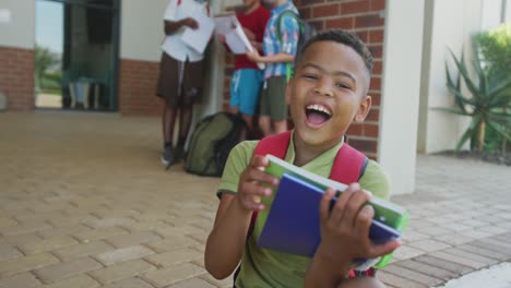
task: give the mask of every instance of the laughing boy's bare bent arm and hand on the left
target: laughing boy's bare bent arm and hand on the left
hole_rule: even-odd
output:
[[[252,212],[264,208],[254,197],[268,196],[272,192],[261,183],[278,183],[275,177],[261,171],[266,165],[268,159],[254,156],[239,177],[236,195],[222,195],[204,253],[205,268],[217,279],[229,276],[241,260]]]

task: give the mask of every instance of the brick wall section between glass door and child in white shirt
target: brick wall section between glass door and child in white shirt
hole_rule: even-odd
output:
[[[162,113],[156,97],[159,63],[121,59],[119,73],[119,111],[122,115]]]

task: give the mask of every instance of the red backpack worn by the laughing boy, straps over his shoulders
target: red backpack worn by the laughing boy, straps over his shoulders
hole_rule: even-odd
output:
[[[290,136],[292,136],[290,131],[287,131],[281,134],[264,137],[255,146],[253,155],[265,156],[266,154],[271,154],[275,157],[284,159],[286,157]],[[346,165],[347,163],[349,163],[349,165]],[[341,149],[337,152],[337,155],[335,156],[334,164],[332,166],[332,170],[330,172],[329,178],[334,181],[337,181],[341,183],[347,183],[347,184],[357,182],[364,176],[364,172],[366,171],[366,167],[368,163],[369,163],[369,159],[367,158],[366,155],[353,148],[345,142],[343,146],[341,147]],[[258,212],[254,211],[252,213],[252,219],[250,220],[250,228],[248,230],[247,239],[251,236],[253,231],[253,227],[255,225],[257,218],[258,218]],[[240,272],[240,268],[241,267],[238,267],[238,269],[235,272],[235,275],[234,275],[235,283]],[[349,271],[349,277],[357,277],[357,276],[371,276],[372,277],[375,275],[376,275],[376,269],[372,267],[367,271],[355,271],[355,269]]]

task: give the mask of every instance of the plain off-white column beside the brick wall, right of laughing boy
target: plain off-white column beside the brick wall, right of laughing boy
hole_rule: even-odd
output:
[[[412,193],[419,103],[425,1],[388,0],[378,159],[392,193]]]

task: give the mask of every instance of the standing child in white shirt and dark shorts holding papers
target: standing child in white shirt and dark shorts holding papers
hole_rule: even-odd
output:
[[[194,19],[209,14],[205,0],[170,0],[164,16],[165,39],[159,62],[156,95],[165,105],[162,116],[164,152],[161,160],[168,168],[185,155],[185,143],[190,131],[193,104],[201,100],[204,77],[204,56],[181,38],[186,28],[198,29]],[[179,112],[179,137],[173,145],[174,125]]]

